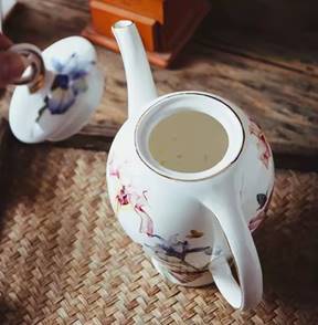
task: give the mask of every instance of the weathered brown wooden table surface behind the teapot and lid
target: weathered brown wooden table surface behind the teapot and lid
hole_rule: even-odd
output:
[[[284,38],[213,27],[208,18],[171,70],[153,67],[159,94],[199,90],[224,96],[251,114],[273,145],[276,166],[318,170],[317,33]],[[14,42],[45,48],[80,34],[89,21],[87,0],[21,0],[6,32]],[[212,22],[211,22],[212,21]],[[315,48],[316,44],[316,48]],[[126,83],[118,54],[97,48],[106,76],[103,102],[81,135],[62,145],[103,149],[127,114]],[[10,93],[0,102],[8,114]],[[94,141],[91,141],[94,137]]]

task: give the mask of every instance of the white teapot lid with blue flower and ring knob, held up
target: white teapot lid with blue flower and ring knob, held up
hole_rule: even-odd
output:
[[[94,46],[84,38],[71,36],[42,53],[31,44],[9,51],[20,53],[28,65],[10,103],[14,136],[32,144],[63,140],[80,132],[103,95],[104,78]]]

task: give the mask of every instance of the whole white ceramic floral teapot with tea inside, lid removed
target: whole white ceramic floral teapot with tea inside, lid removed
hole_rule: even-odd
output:
[[[264,218],[274,185],[263,132],[213,94],[158,97],[135,24],[119,21],[113,32],[129,102],[107,161],[119,222],[168,280],[188,286],[214,281],[235,308],[255,307],[263,282],[251,232]]]

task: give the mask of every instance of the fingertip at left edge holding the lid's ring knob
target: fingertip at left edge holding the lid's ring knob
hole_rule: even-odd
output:
[[[24,71],[21,56],[13,52],[0,52],[0,87],[18,80]]]

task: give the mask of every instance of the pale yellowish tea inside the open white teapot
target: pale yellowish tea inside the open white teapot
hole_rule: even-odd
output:
[[[227,133],[221,123],[195,111],[163,118],[149,138],[152,157],[161,166],[181,172],[198,172],[215,166],[227,146]]]

